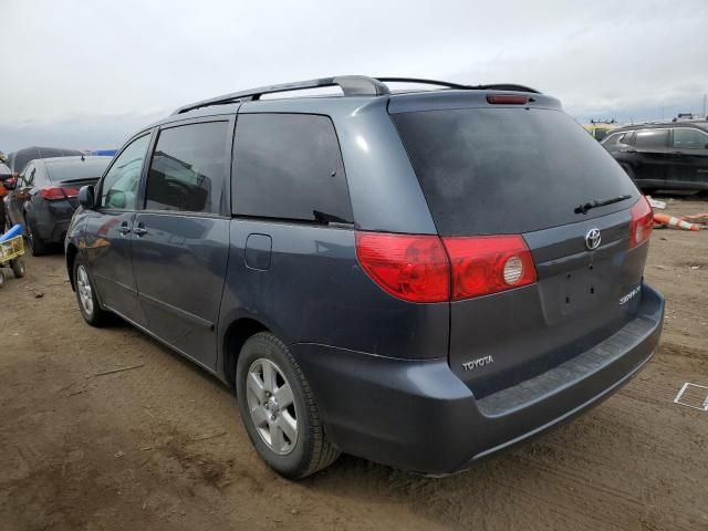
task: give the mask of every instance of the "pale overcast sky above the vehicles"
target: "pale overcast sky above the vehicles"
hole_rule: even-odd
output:
[[[0,149],[117,147],[181,104],[336,74],[516,82],[579,121],[700,113],[708,0],[0,0]]]

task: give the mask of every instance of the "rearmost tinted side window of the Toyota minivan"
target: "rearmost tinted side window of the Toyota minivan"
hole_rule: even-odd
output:
[[[233,165],[237,214],[353,220],[340,145],[325,116],[240,115]]]

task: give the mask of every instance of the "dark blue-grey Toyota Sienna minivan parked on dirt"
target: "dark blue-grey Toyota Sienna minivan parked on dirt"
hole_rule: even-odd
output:
[[[341,451],[465,469],[597,404],[659,340],[650,207],[556,100],[391,81],[185,106],[80,191],[66,238],[85,320],[233,387],[288,477]]]

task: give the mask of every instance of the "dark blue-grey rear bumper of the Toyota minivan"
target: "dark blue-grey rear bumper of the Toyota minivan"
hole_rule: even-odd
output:
[[[643,284],[639,312],[585,353],[476,399],[447,358],[404,361],[291,345],[344,452],[430,475],[451,473],[596,405],[634,376],[659,341],[664,298]]]

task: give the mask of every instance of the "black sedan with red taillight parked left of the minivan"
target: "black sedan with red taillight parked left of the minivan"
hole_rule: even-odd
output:
[[[21,223],[32,254],[64,241],[79,188],[95,184],[111,157],[65,156],[30,160],[4,198],[9,226]]]

